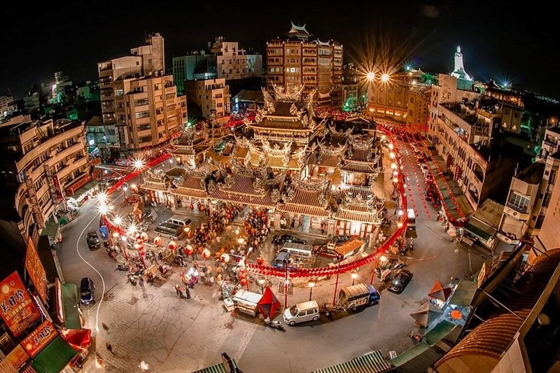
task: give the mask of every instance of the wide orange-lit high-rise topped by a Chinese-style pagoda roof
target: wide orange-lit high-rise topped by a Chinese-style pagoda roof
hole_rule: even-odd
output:
[[[292,23],[283,38],[267,42],[267,90],[274,85],[286,92],[299,90],[303,95],[314,93],[318,106],[342,105],[343,46],[337,41],[314,39],[305,25]]]

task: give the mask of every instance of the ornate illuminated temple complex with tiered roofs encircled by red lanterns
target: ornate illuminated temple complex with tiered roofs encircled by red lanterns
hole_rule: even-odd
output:
[[[386,211],[374,124],[365,131],[318,118],[316,92],[304,96],[302,87],[262,92],[265,106],[243,129],[218,139],[185,132],[172,150],[183,173],[168,171],[167,183],[151,176],[143,188],[176,211],[240,204],[266,209],[274,230],[373,233]]]

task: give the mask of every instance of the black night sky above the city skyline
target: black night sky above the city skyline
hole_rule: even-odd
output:
[[[344,57],[365,59],[383,50],[423,71],[449,73],[456,45],[477,80],[509,80],[514,87],[560,98],[557,20],[536,2],[505,1],[11,1],[2,14],[0,95],[21,96],[34,83],[64,71],[74,82],[97,79],[97,62],[128,55],[145,32],[165,37],[166,65],[173,55],[200,50],[215,36],[265,52],[290,21],[307,24],[322,41],[344,45]],[[80,4],[76,6],[75,4]],[[149,2],[148,2],[149,3]],[[272,3],[272,2],[271,2]],[[83,5],[82,5],[83,4]],[[298,3],[293,3],[298,4]],[[531,5],[535,4],[531,9]],[[234,7],[235,5],[235,7]],[[369,45],[369,47],[365,47]]]

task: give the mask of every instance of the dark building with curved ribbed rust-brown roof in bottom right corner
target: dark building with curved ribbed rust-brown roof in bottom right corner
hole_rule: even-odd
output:
[[[485,264],[458,344],[428,372],[557,372],[558,247],[521,244]]]

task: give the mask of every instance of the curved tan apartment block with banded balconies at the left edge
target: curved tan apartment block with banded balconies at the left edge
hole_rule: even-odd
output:
[[[90,180],[84,124],[18,115],[2,123],[0,149],[0,183],[13,190],[20,233],[36,239],[45,222],[57,222],[65,197]]]

